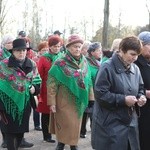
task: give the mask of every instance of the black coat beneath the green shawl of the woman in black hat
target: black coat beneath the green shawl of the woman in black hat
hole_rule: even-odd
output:
[[[16,68],[20,68],[22,71],[25,72],[26,75],[28,73],[32,72],[36,68],[36,64],[26,58],[24,64],[22,67],[19,66],[19,64],[15,61],[14,57],[9,58],[9,63],[8,66],[16,70]],[[35,87],[35,95],[37,95],[40,91],[40,84],[33,85]],[[33,98],[33,96],[31,96]],[[7,101],[7,99],[6,99]],[[26,105],[24,112],[23,112],[23,118],[22,118],[22,123],[19,125],[18,121],[14,121],[12,116],[10,114],[7,114],[4,108],[3,103],[0,101],[0,128],[1,131],[4,133],[24,133],[29,131],[29,117],[31,113],[31,103],[30,101]]]

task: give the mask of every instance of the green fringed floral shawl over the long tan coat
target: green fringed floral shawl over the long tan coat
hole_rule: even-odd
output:
[[[88,105],[89,90],[92,86],[91,72],[84,56],[80,58],[79,64],[69,52],[57,60],[49,70],[47,84],[55,78],[57,84],[63,84],[70,95],[75,97],[75,107],[78,116],[81,117]],[[70,97],[71,101],[72,98]]]

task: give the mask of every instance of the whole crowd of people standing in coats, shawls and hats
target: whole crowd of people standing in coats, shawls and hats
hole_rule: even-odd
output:
[[[34,129],[44,142],[57,142],[56,150],[79,150],[88,119],[93,149],[149,150],[150,32],[114,39],[110,50],[77,34],[64,43],[61,34],[37,51],[25,31],[2,38],[1,147],[34,145],[24,138],[33,110]]]

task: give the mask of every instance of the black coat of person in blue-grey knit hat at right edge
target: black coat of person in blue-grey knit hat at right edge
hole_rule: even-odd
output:
[[[150,90],[150,62],[140,55],[135,62],[140,68],[144,81],[145,90]],[[146,104],[141,108],[139,117],[139,133],[141,150],[150,149],[150,99],[147,98]]]

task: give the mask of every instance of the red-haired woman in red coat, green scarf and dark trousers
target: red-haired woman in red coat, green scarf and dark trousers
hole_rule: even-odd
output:
[[[52,135],[48,131],[50,110],[47,106],[47,76],[48,71],[56,59],[61,57],[60,48],[62,46],[62,39],[59,36],[52,35],[48,39],[49,50],[47,53],[40,57],[38,62],[38,70],[42,78],[42,86],[39,95],[39,105],[37,108],[38,112],[41,112],[41,124],[43,132],[44,142],[55,143],[52,139]],[[47,46],[47,45],[45,45]],[[46,48],[46,47],[45,47]]]

